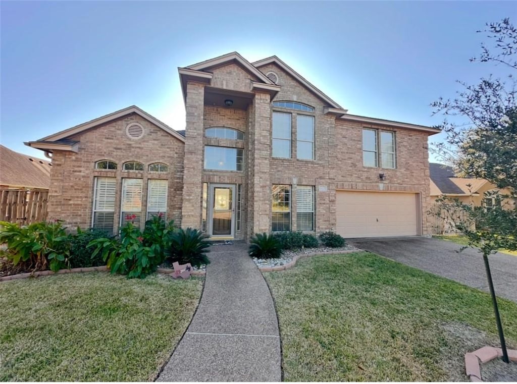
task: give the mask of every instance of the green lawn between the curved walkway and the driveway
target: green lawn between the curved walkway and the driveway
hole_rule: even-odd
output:
[[[286,381],[466,381],[465,352],[498,342],[488,294],[374,254],[264,275]],[[499,306],[515,348],[517,304]]]

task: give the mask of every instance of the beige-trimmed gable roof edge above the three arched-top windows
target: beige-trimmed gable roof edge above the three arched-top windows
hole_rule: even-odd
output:
[[[174,129],[166,125],[164,122],[158,120],[156,117],[149,115],[147,112],[141,110],[136,105],[128,106],[124,109],[109,113],[107,115],[98,117],[96,119],[83,122],[83,124],[79,124],[77,126],[65,129],[63,131],[59,131],[49,136],[45,136],[42,139],[37,141],[25,143],[29,147],[42,149],[45,151],[52,152],[53,149],[61,149],[61,150],[70,150],[77,152],[78,151],[78,141],[70,140],[68,137],[72,135],[76,135],[78,133],[84,132],[86,130],[95,128],[101,124],[105,124],[109,121],[116,120],[118,118],[129,115],[130,113],[135,113],[140,117],[146,119],[147,121],[153,123],[157,127],[163,129],[165,132],[170,133],[176,139],[181,142],[185,142],[185,137],[176,132]]]

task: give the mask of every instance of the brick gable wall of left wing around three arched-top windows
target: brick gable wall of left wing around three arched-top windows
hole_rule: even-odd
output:
[[[126,135],[126,126],[138,122],[144,128],[139,140]],[[94,177],[115,177],[115,231],[120,218],[122,178],[143,179],[142,214],[146,214],[147,180],[169,180],[168,219],[181,224],[181,195],[183,193],[184,144],[171,134],[156,127],[136,114],[131,114],[70,137],[78,140],[79,152],[54,151],[52,156],[51,187],[49,191],[49,219],[64,220],[71,228],[92,226]],[[95,162],[111,160],[117,170],[95,170]],[[143,172],[123,171],[123,163],[138,161],[144,164]],[[169,166],[168,173],[147,172],[151,163]],[[142,223],[143,224],[143,223]]]

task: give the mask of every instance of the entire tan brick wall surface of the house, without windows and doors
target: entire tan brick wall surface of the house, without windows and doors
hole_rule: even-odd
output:
[[[203,183],[242,185],[241,231],[237,238],[248,239],[253,233],[271,231],[271,186],[292,186],[292,230],[296,223],[296,188],[313,186],[315,190],[315,232],[336,227],[336,191],[397,191],[418,193],[422,234],[428,234],[427,215],[430,207],[428,135],[425,132],[349,122],[324,114],[328,106],[282,68],[270,64],[260,70],[278,74],[281,90],[275,99],[262,91],[252,91],[254,75],[237,64],[212,68],[210,91],[224,90],[231,98],[247,95],[245,109],[205,105],[206,84],[186,84],[185,144],[139,116],[127,116],[81,135],[79,153],[55,151],[52,167],[49,217],[71,225],[89,226],[92,221],[93,178],[96,175],[117,177],[116,207],[120,207],[120,178],[133,176],[121,171],[123,162],[135,160],[147,165],[164,162],[170,166],[169,217],[181,226],[202,225]],[[244,94],[245,93],[245,94]],[[247,99],[247,100],[248,100]],[[277,109],[271,101],[297,101],[314,107],[314,112]],[[272,112],[292,113],[292,158],[271,157]],[[315,119],[315,159],[297,160],[296,115]],[[146,129],[141,140],[133,141],[125,134],[130,121],[140,122]],[[204,137],[209,127],[229,127],[244,132],[244,141]],[[368,168],[362,165],[362,128],[394,131],[396,134],[397,168]],[[244,170],[235,172],[204,169],[204,146],[216,145],[244,149]],[[119,164],[116,172],[94,171],[96,160],[109,159]],[[386,180],[379,180],[379,173]],[[145,171],[135,177],[150,177]],[[146,201],[144,188],[143,201]],[[144,204],[145,205],[145,204]],[[208,205],[210,203],[208,202]],[[119,212],[116,211],[116,217]]]

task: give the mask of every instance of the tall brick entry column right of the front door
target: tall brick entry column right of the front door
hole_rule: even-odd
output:
[[[271,227],[271,103],[267,93],[255,93],[249,110],[248,236]]]

